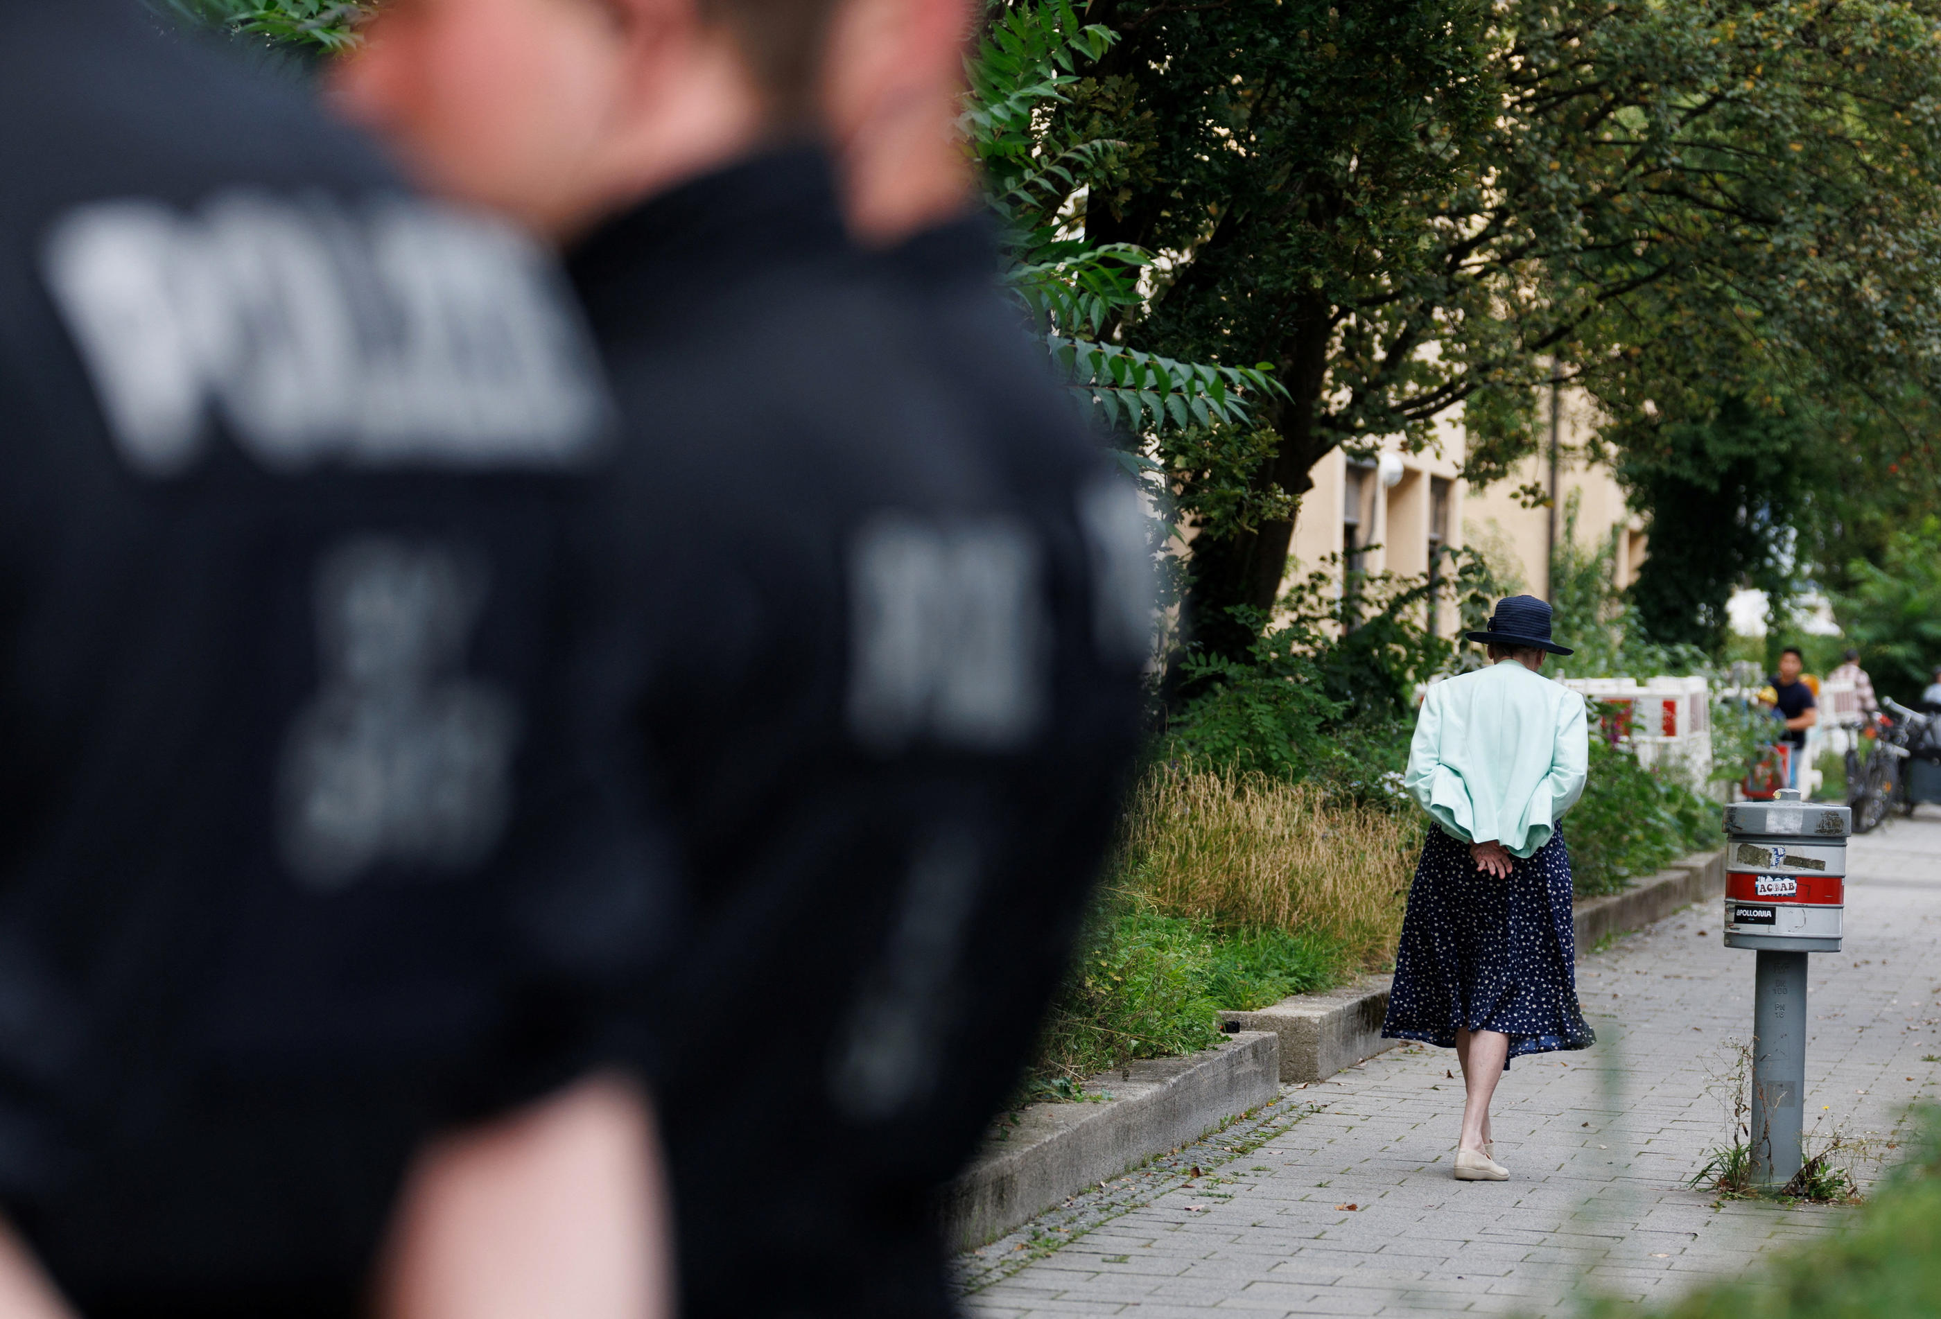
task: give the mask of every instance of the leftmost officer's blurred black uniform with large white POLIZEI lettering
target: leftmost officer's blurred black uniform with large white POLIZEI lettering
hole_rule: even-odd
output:
[[[0,1208],[89,1317],[349,1315],[672,919],[567,648],[606,398],[524,246],[132,6],[0,4]]]

